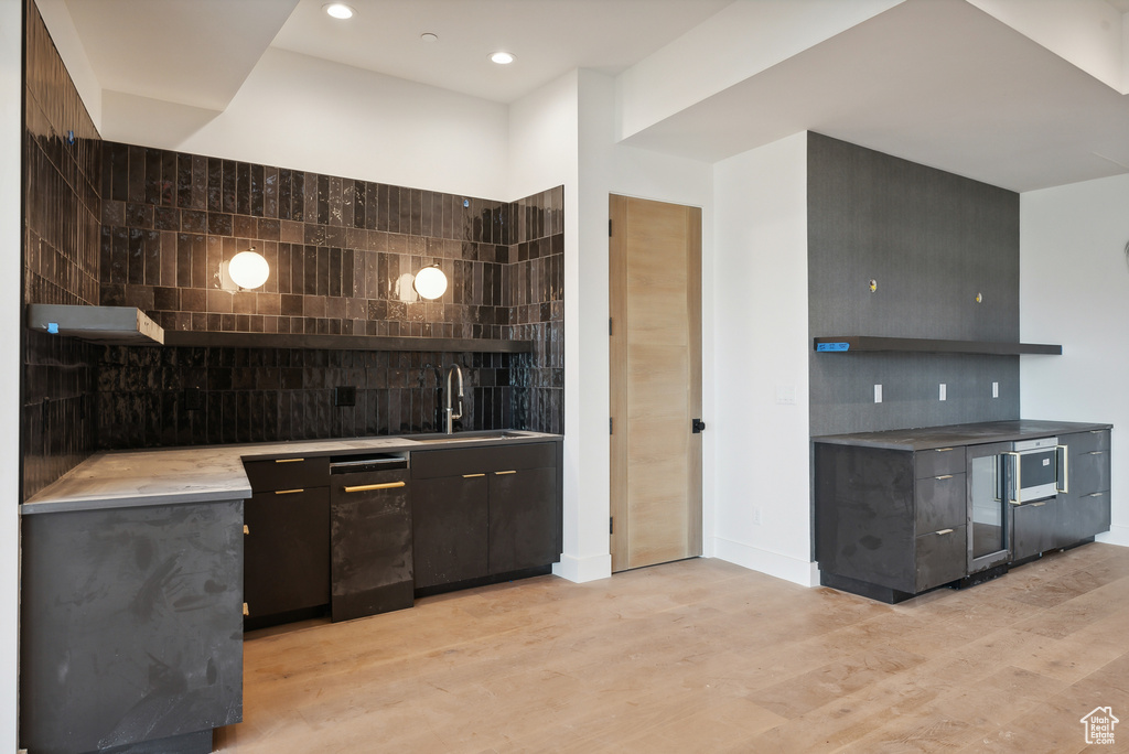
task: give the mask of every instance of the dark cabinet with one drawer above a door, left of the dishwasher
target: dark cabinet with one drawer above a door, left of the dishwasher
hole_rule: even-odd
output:
[[[244,628],[316,615],[330,604],[326,457],[244,463],[253,496],[244,532]]]

